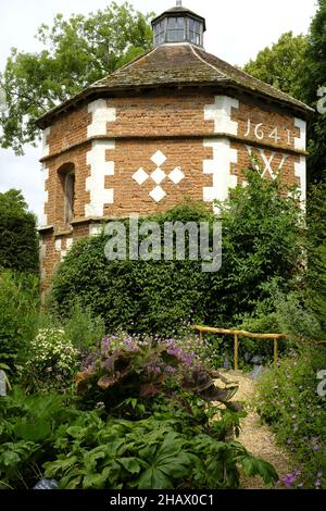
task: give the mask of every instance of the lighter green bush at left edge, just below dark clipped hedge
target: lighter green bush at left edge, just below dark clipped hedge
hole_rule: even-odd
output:
[[[38,279],[0,272],[0,364],[22,363],[38,327]]]

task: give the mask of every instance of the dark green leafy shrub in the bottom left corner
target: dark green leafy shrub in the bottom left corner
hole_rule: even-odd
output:
[[[55,456],[55,429],[77,415],[64,404],[58,394],[28,396],[20,387],[0,398],[0,489],[32,488],[42,476]]]

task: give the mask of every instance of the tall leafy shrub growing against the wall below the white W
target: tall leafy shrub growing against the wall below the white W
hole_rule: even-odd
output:
[[[298,190],[279,176],[267,179],[258,171],[248,171],[246,178],[248,186],[237,186],[229,199],[217,203],[223,264],[210,281],[210,315],[231,326],[268,300],[275,283],[287,292],[304,256]]]

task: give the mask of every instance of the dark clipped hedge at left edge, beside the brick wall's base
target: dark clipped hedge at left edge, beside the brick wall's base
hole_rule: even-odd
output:
[[[38,274],[36,216],[18,190],[0,194],[0,269]]]

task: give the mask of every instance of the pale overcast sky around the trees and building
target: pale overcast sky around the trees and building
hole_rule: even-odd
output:
[[[116,0],[123,3],[123,0]],[[35,34],[41,23],[51,24],[57,13],[70,16],[103,9],[110,0],[0,0],[0,71],[10,49],[38,51]],[[143,13],[158,14],[175,5],[175,0],[130,0]],[[306,34],[316,11],[315,0],[184,0],[183,4],[206,18],[205,50],[243,65],[288,30]],[[0,148],[0,191],[18,188],[29,208],[42,210],[40,149],[25,148],[24,157]]]

